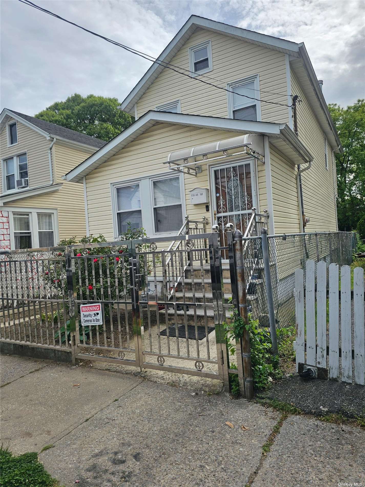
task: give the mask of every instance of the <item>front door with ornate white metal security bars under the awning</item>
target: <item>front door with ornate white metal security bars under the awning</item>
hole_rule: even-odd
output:
[[[226,225],[233,223],[243,234],[255,206],[252,161],[215,166],[211,177],[214,225],[219,225],[220,245],[226,246]],[[228,259],[227,250],[222,250],[222,259]]]

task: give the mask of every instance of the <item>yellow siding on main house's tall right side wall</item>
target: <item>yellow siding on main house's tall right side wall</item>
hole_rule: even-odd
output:
[[[311,169],[302,174],[304,212],[310,217],[306,231],[335,231],[332,149],[328,143],[327,170],[324,133],[292,70],[291,79],[292,94],[298,94],[302,100],[297,109],[299,139],[314,156]]]

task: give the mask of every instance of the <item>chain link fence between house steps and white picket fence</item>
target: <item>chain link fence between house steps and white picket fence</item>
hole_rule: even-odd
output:
[[[295,325],[294,271],[306,262],[350,265],[356,248],[353,232],[302,233],[267,237],[276,327]],[[244,239],[249,311],[261,326],[270,326],[261,237]],[[328,279],[328,277],[327,277]]]

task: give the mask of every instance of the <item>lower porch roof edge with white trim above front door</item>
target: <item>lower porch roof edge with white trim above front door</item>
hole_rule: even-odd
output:
[[[153,127],[157,123],[169,123],[174,125],[187,125],[190,127],[207,128],[212,130],[232,131],[243,134],[260,134],[270,137],[270,142],[289,157],[294,164],[310,162],[313,156],[309,150],[294,135],[294,132],[287,124],[271,122],[250,122],[247,120],[235,120],[233,118],[209,117],[204,115],[188,115],[185,113],[156,112],[150,110],[141,118],[136,120],[125,131],[121,132],[114,139],[110,140],[101,149],[97,150],[84,162],[69,171],[63,179],[80,183],[82,178],[89,174],[101,164],[108,161],[110,157],[128,144],[133,142],[139,135]]]

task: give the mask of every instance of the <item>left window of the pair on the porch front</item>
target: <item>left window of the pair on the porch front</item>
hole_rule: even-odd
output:
[[[128,223],[132,228],[142,228],[142,206],[139,184],[117,188],[118,234],[125,233]]]

